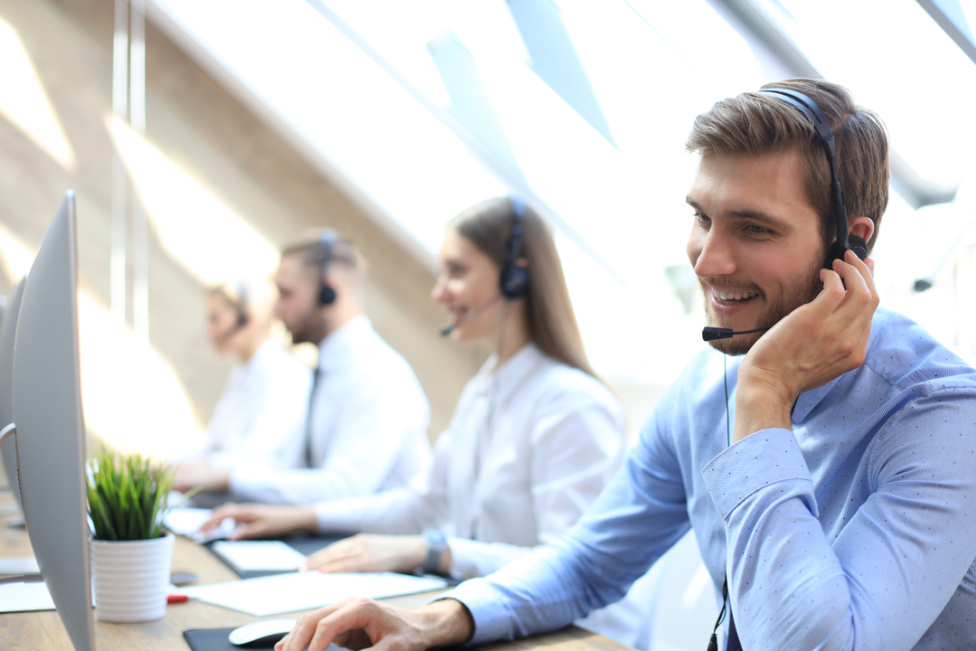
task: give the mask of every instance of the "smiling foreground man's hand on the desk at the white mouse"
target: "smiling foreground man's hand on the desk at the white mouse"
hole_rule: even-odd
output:
[[[305,615],[274,649],[324,651],[335,643],[349,649],[423,651],[434,646],[462,644],[473,632],[468,608],[454,599],[404,610],[356,597]]]

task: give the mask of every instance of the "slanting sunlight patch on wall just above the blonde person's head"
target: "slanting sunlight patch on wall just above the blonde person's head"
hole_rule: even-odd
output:
[[[105,127],[163,248],[202,285],[263,277],[278,251],[220,199],[121,120]]]

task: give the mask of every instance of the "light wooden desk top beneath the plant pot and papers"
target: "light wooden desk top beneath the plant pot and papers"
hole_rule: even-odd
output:
[[[0,493],[0,556],[31,553],[27,532],[22,528],[8,526],[8,521],[14,514],[13,495],[10,492]],[[210,551],[180,536],[177,536],[173,550],[173,569],[199,573],[201,584],[233,581],[237,578]],[[436,593],[411,594],[390,598],[388,601],[398,606],[414,608],[427,603]],[[288,614],[283,617],[297,616]],[[158,622],[108,624],[96,621],[96,643],[98,651],[188,651],[189,646],[183,639],[183,631],[187,629],[238,627],[258,619],[261,618],[191,600],[168,606],[166,617]],[[484,647],[484,651],[528,651],[540,647],[547,647],[547,651],[632,651],[630,647],[576,627],[516,642],[492,644]],[[71,651],[72,648],[67,631],[61,626],[58,613],[53,610],[0,613],[0,649]]]

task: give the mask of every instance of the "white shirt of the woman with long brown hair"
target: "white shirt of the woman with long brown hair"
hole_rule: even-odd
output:
[[[317,503],[319,530],[419,534],[437,527],[448,536],[451,573],[470,578],[572,526],[623,464],[623,407],[599,381],[533,344],[497,373],[496,361],[489,358],[465,387],[426,478]],[[641,610],[625,599],[579,624],[632,643]]]

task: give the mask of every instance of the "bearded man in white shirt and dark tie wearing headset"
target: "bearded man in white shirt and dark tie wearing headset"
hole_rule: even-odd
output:
[[[286,248],[274,282],[275,315],[296,344],[319,349],[305,427],[286,446],[288,468],[200,466],[186,479],[236,500],[310,504],[393,488],[426,471],[427,397],[363,313],[363,274],[348,240],[327,230]]]

